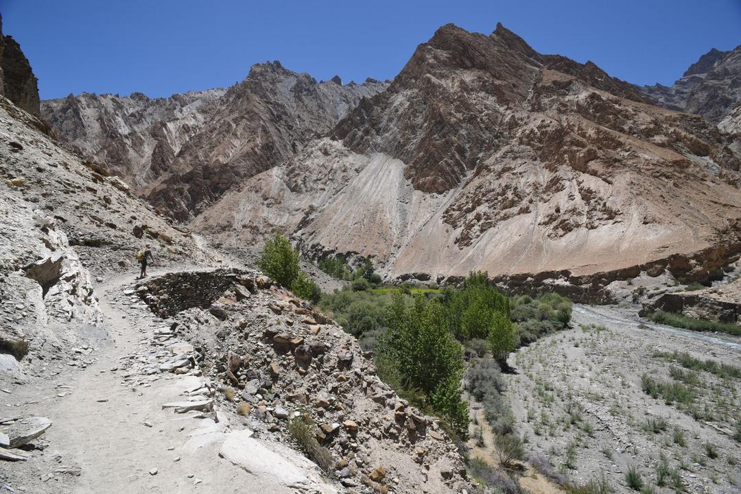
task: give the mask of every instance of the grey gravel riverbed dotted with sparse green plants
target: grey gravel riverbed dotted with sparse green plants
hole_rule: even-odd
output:
[[[634,468],[657,493],[738,492],[741,375],[693,371],[674,352],[738,368],[741,339],[646,324],[615,306],[575,305],[572,325],[510,357],[526,446],[577,484],[604,474],[628,493]]]

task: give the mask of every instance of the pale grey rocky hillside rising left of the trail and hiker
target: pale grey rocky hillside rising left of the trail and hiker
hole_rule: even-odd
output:
[[[147,226],[163,262],[205,258],[190,235],[116,177],[59,149],[42,126],[0,101],[0,353],[21,363],[105,339],[88,270],[130,265],[142,242],[136,226]]]

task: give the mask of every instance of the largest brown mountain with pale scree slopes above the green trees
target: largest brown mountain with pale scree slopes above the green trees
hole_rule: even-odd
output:
[[[319,255],[370,255],[389,277],[593,274],[728,240],[739,161],[720,132],[598,74],[501,26],[447,25],[332,139],[193,226],[235,244],[288,231]]]

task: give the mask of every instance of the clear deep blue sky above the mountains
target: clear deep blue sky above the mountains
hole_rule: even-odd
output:
[[[541,53],[637,84],[671,84],[711,47],[741,44],[740,0],[0,0],[0,13],[41,98],[227,87],[267,60],[393,78],[448,22],[488,34],[501,21]]]

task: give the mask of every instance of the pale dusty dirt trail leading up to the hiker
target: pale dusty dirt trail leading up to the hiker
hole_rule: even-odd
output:
[[[202,378],[147,376],[128,365],[147,356],[151,362],[153,353],[162,351],[150,336],[167,325],[138,297],[123,294],[133,288],[134,277],[125,275],[96,287],[110,335],[110,344],[91,355],[97,361],[19,396],[27,400],[23,415],[52,420],[44,439],[58,452],[26,462],[36,469],[33,473],[47,473],[26,475],[22,487],[34,493],[223,493],[225,485],[241,484],[250,487],[240,492],[260,492],[268,486],[259,478],[219,458],[224,420],[214,424],[194,419],[193,413],[162,410],[166,402],[183,401],[185,390],[197,388]],[[47,397],[39,399],[42,395]],[[45,463],[53,456],[58,463]],[[79,477],[53,473],[60,466],[79,467]]]

